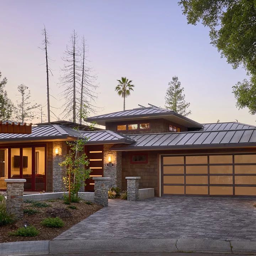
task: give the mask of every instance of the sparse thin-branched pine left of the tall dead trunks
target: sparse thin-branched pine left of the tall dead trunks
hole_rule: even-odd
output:
[[[31,121],[35,118],[36,113],[33,111],[38,107],[37,103],[32,103],[30,100],[30,90],[28,86],[21,84],[18,86],[18,92],[20,98],[18,99],[18,105],[16,106],[16,120],[22,123]]]

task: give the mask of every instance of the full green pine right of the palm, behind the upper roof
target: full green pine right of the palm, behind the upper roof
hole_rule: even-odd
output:
[[[190,102],[185,101],[184,87],[181,87],[178,77],[173,76],[172,81],[168,85],[169,88],[165,95],[165,108],[175,111],[182,116],[191,114],[191,111],[188,110]]]

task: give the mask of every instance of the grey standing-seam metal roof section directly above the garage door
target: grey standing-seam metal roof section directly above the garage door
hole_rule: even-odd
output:
[[[229,146],[256,146],[256,128],[180,133],[127,135],[136,140],[129,146],[113,146],[113,150],[185,149]]]

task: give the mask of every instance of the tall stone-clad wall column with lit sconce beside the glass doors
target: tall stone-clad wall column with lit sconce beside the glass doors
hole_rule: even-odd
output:
[[[59,154],[56,155],[55,149],[58,148]],[[53,142],[53,192],[62,192],[65,190],[63,177],[66,176],[66,167],[59,166],[59,163],[65,159],[67,154],[67,144],[65,141]]]

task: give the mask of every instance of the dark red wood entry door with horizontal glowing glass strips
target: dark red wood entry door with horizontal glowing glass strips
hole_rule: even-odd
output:
[[[93,177],[103,177],[103,145],[87,145],[85,153],[90,160],[90,178],[85,180],[85,191],[94,192]]]

